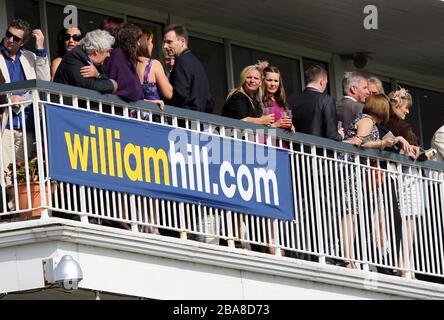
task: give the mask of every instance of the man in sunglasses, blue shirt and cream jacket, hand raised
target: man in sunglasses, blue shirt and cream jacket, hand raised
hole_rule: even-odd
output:
[[[30,37],[35,38],[36,54],[23,49]],[[40,29],[31,30],[30,24],[24,20],[13,20],[6,29],[5,36],[0,43],[0,71],[5,82],[20,82],[31,79],[50,81],[49,61],[44,48],[45,37]],[[28,100],[29,94],[14,93],[10,97],[12,106],[12,121],[8,119],[8,108],[3,108],[1,133],[3,147],[3,168],[5,170],[12,163],[13,153],[15,161],[24,161],[24,135],[21,116],[21,102]],[[33,155],[33,116],[32,106],[25,109],[26,148],[28,157]],[[11,130],[11,126],[13,130]],[[12,141],[11,144],[11,135]],[[10,182],[10,181],[7,181]]]

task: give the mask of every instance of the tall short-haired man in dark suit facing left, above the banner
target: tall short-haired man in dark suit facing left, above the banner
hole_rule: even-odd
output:
[[[163,42],[166,53],[176,57],[169,78],[173,86],[173,97],[166,102],[181,108],[212,113],[214,102],[208,77],[202,63],[188,49],[188,32],[185,27],[166,27]]]

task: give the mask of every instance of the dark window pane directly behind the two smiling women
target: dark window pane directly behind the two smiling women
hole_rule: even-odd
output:
[[[278,67],[282,73],[289,105],[295,103],[302,92],[299,60],[236,45],[232,45],[231,50],[235,85],[238,84],[240,72],[244,67],[254,64],[258,60],[267,60],[271,65]]]

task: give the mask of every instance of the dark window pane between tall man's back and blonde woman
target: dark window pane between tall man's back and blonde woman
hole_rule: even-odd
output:
[[[227,96],[225,49],[222,43],[190,37],[190,49],[202,62],[214,99],[213,113],[220,114]]]

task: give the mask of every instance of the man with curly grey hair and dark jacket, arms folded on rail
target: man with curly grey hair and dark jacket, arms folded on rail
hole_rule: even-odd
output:
[[[102,64],[114,44],[114,37],[107,31],[88,32],[80,44],[69,51],[62,59],[54,81],[71,86],[113,93],[117,90],[114,80],[102,76]],[[94,65],[95,68],[90,68]],[[85,73],[85,70],[92,70]]]

